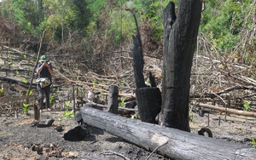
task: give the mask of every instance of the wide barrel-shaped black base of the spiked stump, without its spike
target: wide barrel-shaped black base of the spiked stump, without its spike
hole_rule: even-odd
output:
[[[161,93],[159,88],[136,89],[137,106],[142,122],[158,123],[155,117],[161,110]]]

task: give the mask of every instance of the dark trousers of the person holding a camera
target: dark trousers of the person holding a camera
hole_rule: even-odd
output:
[[[39,85],[37,85],[37,89],[38,89],[38,105],[40,106],[40,110],[44,109],[44,95],[46,98],[46,104],[45,104],[45,108],[49,108],[49,93],[50,93],[50,85],[44,87],[44,88],[40,88]]]

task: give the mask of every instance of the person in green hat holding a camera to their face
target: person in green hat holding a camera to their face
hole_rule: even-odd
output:
[[[37,74],[38,79],[41,78],[41,80],[46,78],[49,83],[46,83],[46,85],[43,85],[42,82],[37,81],[37,89],[38,89],[38,105],[40,107],[40,110],[43,111],[44,109],[44,94],[46,98],[46,106],[45,108],[50,111],[49,107],[49,94],[50,94],[50,86],[52,83],[52,75],[53,75],[53,69],[51,64],[49,63],[48,58],[46,55],[42,55],[40,57],[38,67],[37,67]],[[44,83],[45,84],[45,83]]]

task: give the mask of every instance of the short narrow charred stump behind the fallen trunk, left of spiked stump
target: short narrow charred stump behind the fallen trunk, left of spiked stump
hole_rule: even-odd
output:
[[[112,112],[114,114],[118,113],[119,102],[119,89],[115,85],[111,85],[109,87],[109,94],[108,94],[108,112]]]

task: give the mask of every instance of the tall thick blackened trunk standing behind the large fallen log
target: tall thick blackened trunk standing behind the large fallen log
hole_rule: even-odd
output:
[[[164,11],[164,61],[160,125],[190,131],[189,79],[201,19],[201,0],[180,0]]]

